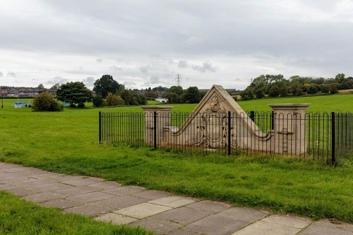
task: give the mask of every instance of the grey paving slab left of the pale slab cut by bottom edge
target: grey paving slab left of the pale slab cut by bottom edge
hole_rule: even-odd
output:
[[[226,235],[243,228],[247,224],[249,223],[229,217],[210,215],[186,225],[183,229],[206,235]]]

